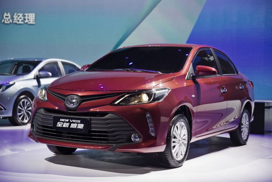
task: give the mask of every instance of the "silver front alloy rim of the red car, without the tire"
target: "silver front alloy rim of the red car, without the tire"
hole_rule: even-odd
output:
[[[186,152],[188,143],[187,127],[182,120],[174,126],[172,131],[172,154],[176,160],[181,160]]]

